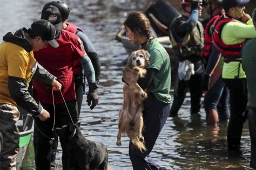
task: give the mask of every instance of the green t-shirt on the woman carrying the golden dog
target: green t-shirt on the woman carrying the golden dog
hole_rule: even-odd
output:
[[[158,70],[154,74],[153,80],[147,91],[154,94],[159,101],[163,103],[171,103],[170,57],[164,47],[155,38],[149,42],[146,51],[150,53],[150,65],[147,66],[147,68]]]

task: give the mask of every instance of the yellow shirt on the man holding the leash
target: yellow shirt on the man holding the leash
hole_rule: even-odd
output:
[[[29,53],[21,46],[3,42],[0,45],[0,103],[17,105],[10,96],[8,76],[22,78],[29,86],[36,68],[32,51]]]

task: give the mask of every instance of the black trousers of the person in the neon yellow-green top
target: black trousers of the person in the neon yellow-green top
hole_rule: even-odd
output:
[[[240,145],[242,125],[247,104],[246,79],[223,79],[230,91],[230,121],[227,128],[228,145]]]

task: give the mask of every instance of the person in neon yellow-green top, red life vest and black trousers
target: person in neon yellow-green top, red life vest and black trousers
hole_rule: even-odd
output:
[[[241,65],[241,48],[256,37],[250,15],[244,12],[248,0],[223,0],[225,16],[213,23],[213,44],[224,59],[222,77],[230,93],[231,115],[227,128],[229,150],[239,150],[242,126],[247,116],[246,75]]]

